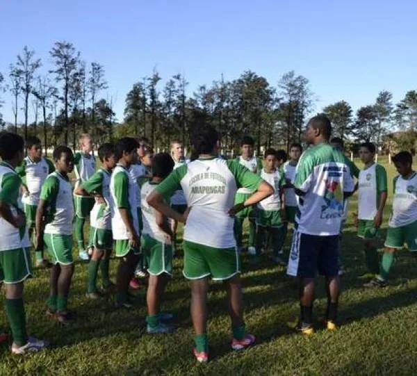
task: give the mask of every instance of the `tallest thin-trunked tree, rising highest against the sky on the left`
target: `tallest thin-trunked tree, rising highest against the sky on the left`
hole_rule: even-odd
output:
[[[70,86],[72,83],[72,75],[76,71],[79,63],[80,53],[74,48],[70,42],[55,42],[54,47],[49,52],[54,59],[54,70],[49,71],[55,74],[56,82],[62,83],[62,95],[60,100],[64,105],[64,141],[68,144],[68,129],[70,127],[69,121],[69,95]]]

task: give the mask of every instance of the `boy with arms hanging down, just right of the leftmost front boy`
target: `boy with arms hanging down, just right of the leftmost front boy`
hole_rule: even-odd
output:
[[[51,286],[47,313],[59,322],[73,318],[67,311],[68,295],[74,263],[72,259],[72,220],[74,202],[68,174],[74,170],[74,155],[69,147],[54,149],[56,171],[49,174],[42,186],[36,211],[37,246],[47,246],[54,265],[51,268]]]

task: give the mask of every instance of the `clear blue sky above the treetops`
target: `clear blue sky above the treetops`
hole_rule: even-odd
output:
[[[163,79],[185,74],[190,93],[221,74],[253,70],[275,85],[295,70],[309,79],[316,111],[341,99],[357,109],[380,90],[399,101],[417,86],[414,0],[2,0],[0,13],[6,80],[25,44],[46,71],[54,42],[67,40],[104,65],[102,97],[113,96],[119,120],[126,92],[153,67]],[[1,97],[11,122],[10,95]]]

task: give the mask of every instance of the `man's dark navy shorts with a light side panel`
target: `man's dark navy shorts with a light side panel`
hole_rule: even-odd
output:
[[[339,236],[318,236],[294,231],[287,274],[293,277],[314,278],[338,275]]]

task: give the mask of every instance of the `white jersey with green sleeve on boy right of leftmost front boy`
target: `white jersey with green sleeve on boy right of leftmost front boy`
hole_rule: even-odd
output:
[[[72,185],[59,172],[49,174],[42,186],[41,199],[47,205],[45,234],[72,235],[74,202]]]

